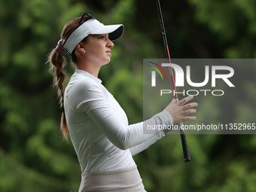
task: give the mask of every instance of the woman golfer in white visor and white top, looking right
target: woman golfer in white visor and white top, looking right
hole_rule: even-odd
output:
[[[194,113],[192,97],[172,102],[159,114],[129,125],[123,108],[98,78],[99,69],[110,62],[114,40],[123,34],[123,25],[105,26],[90,14],[64,26],[56,49],[49,56],[62,107],[61,130],[70,136],[81,166],[81,191],[145,191],[133,155],[165,136],[167,131],[143,134],[143,124],[171,125]],[[69,54],[75,72],[64,87],[63,71]]]

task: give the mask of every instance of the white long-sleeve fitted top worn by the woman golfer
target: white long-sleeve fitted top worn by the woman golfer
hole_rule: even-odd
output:
[[[123,108],[102,81],[78,69],[66,87],[64,108],[82,173],[134,166],[132,156],[164,136],[163,130],[145,134],[146,125],[173,123],[171,114],[163,111],[129,125]]]

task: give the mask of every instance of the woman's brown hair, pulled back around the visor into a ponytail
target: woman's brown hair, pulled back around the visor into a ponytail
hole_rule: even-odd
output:
[[[62,45],[65,44],[65,41],[67,38],[69,38],[69,35],[71,35],[72,32],[74,32],[75,29],[78,28],[78,26],[81,26],[81,24],[86,22],[88,19],[90,19],[90,17],[84,17],[81,23],[79,23],[81,17],[77,17],[66,23],[66,26],[64,26],[61,33]],[[82,41],[85,41],[85,39],[86,38],[84,38]],[[79,54],[77,53],[76,49],[72,51],[71,58],[74,64],[78,62]],[[62,132],[62,136],[64,137],[64,139],[68,139],[69,130],[66,123],[66,114],[64,109],[64,81],[66,79],[65,66],[67,64],[66,57],[62,56],[62,54],[59,53],[59,51],[55,48],[49,53],[47,62],[50,63],[50,73],[53,75],[53,86],[56,87],[58,90],[59,105],[62,108],[60,130]]]

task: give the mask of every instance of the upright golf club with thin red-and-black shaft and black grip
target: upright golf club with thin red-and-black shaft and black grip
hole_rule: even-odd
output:
[[[158,14],[159,14],[159,18],[160,18],[160,25],[161,25],[162,34],[163,34],[163,44],[166,49],[166,57],[168,59],[168,62],[171,63],[171,57],[169,54],[169,47],[168,47],[167,38],[166,38],[166,31],[165,31],[164,25],[163,25],[163,16],[162,16],[162,11],[161,11],[159,0],[157,0],[157,10],[158,10]],[[174,75],[172,72],[172,67],[169,67],[169,74],[170,74],[171,81],[172,81],[172,90],[174,92],[174,99],[176,102],[178,102],[178,95],[177,95],[177,91],[176,91],[176,87],[175,87],[175,81],[174,81]],[[186,139],[186,135],[185,135],[183,126],[184,126],[183,122],[178,123],[178,127],[180,130],[180,136],[181,136],[181,144],[182,144],[182,149],[183,149],[184,162],[187,162],[187,161],[190,161],[190,154],[188,152],[187,139]]]

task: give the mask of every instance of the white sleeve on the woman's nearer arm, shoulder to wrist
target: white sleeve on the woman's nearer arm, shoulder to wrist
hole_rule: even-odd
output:
[[[139,145],[163,130],[151,130],[146,132],[148,125],[172,124],[172,116],[167,111],[154,115],[149,120],[125,126],[109,102],[105,99],[104,93],[96,82],[79,82],[72,90],[74,99],[69,103],[75,111],[85,111],[96,123],[99,130],[117,147],[122,150]],[[153,142],[154,139],[151,140]],[[150,142],[148,142],[149,144]],[[145,144],[146,146],[146,144]]]

